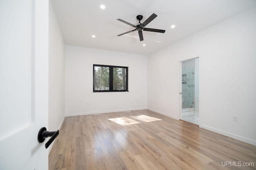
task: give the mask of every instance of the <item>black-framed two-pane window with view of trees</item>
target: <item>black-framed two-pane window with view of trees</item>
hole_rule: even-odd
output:
[[[128,91],[128,67],[93,64],[93,92]]]

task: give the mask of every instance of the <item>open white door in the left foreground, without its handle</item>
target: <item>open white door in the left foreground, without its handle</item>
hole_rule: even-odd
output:
[[[48,0],[0,0],[0,169],[47,170]]]

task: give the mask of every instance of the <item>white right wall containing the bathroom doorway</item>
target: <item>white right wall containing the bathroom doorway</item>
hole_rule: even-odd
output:
[[[199,57],[200,127],[256,145],[255,16],[252,8],[149,55],[148,108],[179,119],[179,62]]]

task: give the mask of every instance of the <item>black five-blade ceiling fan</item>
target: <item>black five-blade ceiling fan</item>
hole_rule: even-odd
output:
[[[128,32],[125,32],[125,33],[122,33],[122,34],[119,34],[117,36],[121,36],[121,35],[124,35],[124,34],[127,34],[127,33],[130,33],[130,32],[133,32],[133,31],[138,31],[139,33],[139,37],[140,37],[140,41],[143,41],[143,35],[142,35],[142,30],[143,31],[151,31],[151,32],[157,32],[157,33],[164,33],[165,30],[162,30],[162,29],[153,29],[153,28],[145,28],[146,25],[148,25],[148,23],[150,23],[152,20],[154,20],[155,18],[157,17],[156,14],[152,14],[150,17],[148,17],[148,19],[146,19],[146,21],[144,21],[143,23],[140,23],[140,20],[142,20],[143,16],[142,15],[138,15],[136,18],[137,20],[139,20],[139,23],[135,26],[131,23],[128,23],[124,20],[121,20],[121,19],[117,19],[118,21],[121,21],[123,23],[126,23],[132,27],[134,27],[135,29],[132,30],[132,31],[128,31]]]

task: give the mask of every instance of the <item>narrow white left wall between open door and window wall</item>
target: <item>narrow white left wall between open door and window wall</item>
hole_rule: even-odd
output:
[[[49,129],[56,131],[65,115],[65,45],[49,1]],[[52,145],[51,145],[52,146]]]

